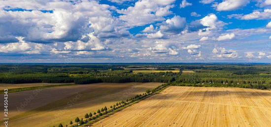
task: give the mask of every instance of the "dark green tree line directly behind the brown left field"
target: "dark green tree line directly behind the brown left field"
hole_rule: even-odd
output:
[[[177,74],[171,73],[116,73],[116,75],[98,76],[77,76],[71,77],[68,74],[21,74],[21,75],[0,75],[0,83],[71,83],[90,84],[98,82],[124,83],[124,82],[171,82]]]

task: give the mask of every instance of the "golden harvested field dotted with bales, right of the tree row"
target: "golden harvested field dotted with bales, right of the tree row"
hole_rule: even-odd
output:
[[[271,91],[171,86],[95,127],[271,127]]]

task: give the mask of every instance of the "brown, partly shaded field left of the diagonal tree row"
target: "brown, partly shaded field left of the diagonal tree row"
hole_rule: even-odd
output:
[[[52,127],[62,123],[66,126],[75,117],[84,118],[86,113],[97,112],[161,84],[94,83],[9,93],[9,125]]]

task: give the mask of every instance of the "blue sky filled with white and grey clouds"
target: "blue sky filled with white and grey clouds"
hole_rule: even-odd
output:
[[[4,62],[271,62],[271,0],[1,0]]]

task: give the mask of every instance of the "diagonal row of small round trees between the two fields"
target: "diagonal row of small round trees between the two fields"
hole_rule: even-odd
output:
[[[107,115],[112,112],[115,112],[123,107],[129,106],[134,102],[138,102],[140,100],[143,100],[143,99],[149,97],[150,95],[158,93],[159,91],[163,90],[167,86],[169,86],[169,83],[160,85],[152,90],[146,90],[146,92],[143,93],[142,95],[141,94],[136,95],[133,98],[128,98],[128,99],[123,100],[121,102],[117,102],[116,104],[111,105],[108,108],[106,106],[104,106],[101,109],[98,109],[97,112],[86,113],[84,118],[79,119],[79,117],[76,117],[74,119],[74,121],[70,121],[69,124],[66,124],[66,127],[76,127],[78,125],[91,124],[92,122],[101,118],[102,116]],[[58,127],[64,127],[63,125],[65,125],[65,124],[61,123],[58,125]],[[55,126],[53,126],[53,127],[55,127]]]

